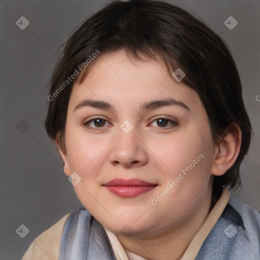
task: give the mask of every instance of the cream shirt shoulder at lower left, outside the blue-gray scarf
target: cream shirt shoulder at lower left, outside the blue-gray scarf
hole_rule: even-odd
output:
[[[57,260],[59,255],[60,238],[63,226],[70,213],[38,236],[29,246],[22,260]]]

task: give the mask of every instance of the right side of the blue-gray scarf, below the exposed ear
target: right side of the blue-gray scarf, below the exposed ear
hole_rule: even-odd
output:
[[[196,259],[255,260],[259,252],[260,213],[231,193]]]

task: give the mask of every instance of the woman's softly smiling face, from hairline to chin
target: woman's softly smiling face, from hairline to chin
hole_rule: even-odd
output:
[[[116,234],[174,228],[211,189],[206,110],[160,61],[130,60],[124,51],[101,56],[73,87],[65,143],[64,172],[81,178],[79,200]]]

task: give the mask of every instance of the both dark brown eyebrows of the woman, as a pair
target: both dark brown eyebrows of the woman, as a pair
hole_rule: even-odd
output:
[[[183,102],[175,100],[175,99],[163,99],[163,100],[152,100],[149,102],[144,103],[141,106],[141,111],[142,110],[153,110],[153,109],[158,109],[164,106],[180,106],[187,111],[190,111],[190,108],[185,105]],[[105,101],[98,101],[98,100],[83,100],[80,102],[73,111],[76,111],[80,108],[83,107],[93,107],[93,108],[98,108],[98,109],[114,109],[112,105]]]

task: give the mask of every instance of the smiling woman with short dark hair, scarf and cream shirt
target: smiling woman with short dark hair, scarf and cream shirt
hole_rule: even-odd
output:
[[[25,259],[257,259],[240,185],[251,125],[232,55],[164,2],[113,2],[69,39],[45,121],[81,207]]]

